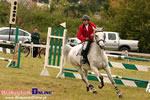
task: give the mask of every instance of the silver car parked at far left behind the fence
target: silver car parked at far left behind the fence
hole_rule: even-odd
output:
[[[0,40],[9,40],[9,27],[0,28]],[[11,28],[10,41],[15,41],[16,28]],[[23,43],[31,42],[31,34],[25,30],[19,29],[18,40]]]

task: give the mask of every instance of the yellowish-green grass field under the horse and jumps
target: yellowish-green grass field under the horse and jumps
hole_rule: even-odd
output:
[[[0,57],[12,58],[12,55],[0,53]],[[125,60],[118,59],[111,59],[111,61],[126,62]],[[130,62],[150,66],[150,63],[148,62]],[[42,71],[44,64],[43,58],[33,59],[31,57],[22,57],[21,67],[23,69],[6,68],[7,64],[7,62],[0,60],[0,90],[31,91],[32,88],[38,88],[40,91],[52,91],[52,95],[42,95],[47,97],[46,100],[119,100],[111,84],[105,84],[103,89],[98,89],[97,86],[99,82],[90,81],[98,92],[97,94],[92,94],[90,92],[86,92],[85,84],[82,80],[71,78],[56,79],[55,76],[58,73],[58,69],[49,68],[48,71],[50,76],[40,76],[40,72]],[[73,66],[68,64],[66,67],[70,68]],[[114,75],[150,80],[150,72],[131,71],[118,68],[112,68],[111,70]],[[122,100],[150,100],[150,94],[146,93],[143,88],[127,87],[122,85],[118,85],[118,87],[124,96]],[[6,97],[8,96],[9,95],[0,94],[0,100],[6,100]]]

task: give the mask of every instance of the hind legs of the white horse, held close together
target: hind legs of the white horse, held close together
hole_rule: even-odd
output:
[[[88,79],[86,77],[87,72],[83,72],[81,68],[78,68],[78,72],[80,73],[83,82],[86,84],[87,91],[91,90],[93,93],[97,93],[94,86],[88,82]]]

